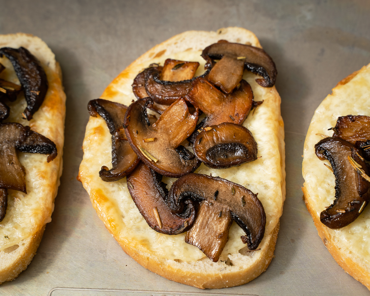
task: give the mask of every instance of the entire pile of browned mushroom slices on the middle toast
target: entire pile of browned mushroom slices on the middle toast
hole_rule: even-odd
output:
[[[98,113],[107,121],[112,134],[113,168],[103,166],[101,178],[116,181],[127,174],[132,199],[152,229],[165,234],[188,231],[185,241],[217,262],[233,220],[246,233],[243,243],[250,250],[258,248],[265,211],[257,195],[243,186],[193,172],[200,161],[229,168],[257,158],[257,143],[241,124],[262,101],[253,100],[242,75],[246,68],[263,76],[256,79],[258,84],[272,87],[277,72],[269,55],[253,46],[221,40],[205,48],[202,57],[207,71],[195,78],[198,62],[167,59],[163,67],[149,65],[134,79],[138,100],[126,112],[123,105],[105,100],[93,100],[88,108],[92,116]],[[154,123],[147,108],[161,114]],[[205,118],[197,125],[201,112]],[[132,153],[117,148],[126,143],[122,121]],[[183,146],[186,138],[196,157]],[[135,169],[121,156],[133,154],[142,161]],[[162,175],[179,178],[169,193]]]

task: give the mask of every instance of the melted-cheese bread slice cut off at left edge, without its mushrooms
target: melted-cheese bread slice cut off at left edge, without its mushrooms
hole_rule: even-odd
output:
[[[24,47],[41,63],[48,80],[48,91],[41,107],[27,121],[22,112],[27,106],[23,92],[14,102],[7,102],[10,116],[4,122],[18,122],[51,139],[58,155],[47,162],[47,155],[18,152],[26,171],[27,194],[8,189],[5,218],[0,222],[0,283],[15,279],[27,268],[51,221],[54,198],[60,184],[64,143],[65,94],[59,64],[46,43],[30,34],[0,35],[0,48]],[[0,78],[20,84],[10,60],[0,58],[6,69]]]

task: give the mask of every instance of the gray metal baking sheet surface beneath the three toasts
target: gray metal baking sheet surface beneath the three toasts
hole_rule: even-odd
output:
[[[201,291],[157,276],[127,256],[76,176],[89,100],[155,44],[182,31],[227,26],[252,30],[276,63],[287,195],[266,272],[243,286]],[[31,33],[46,41],[60,62],[67,94],[64,169],[53,221],[31,264],[1,285],[0,295],[370,295],[327,252],[301,191],[301,155],[313,112],[338,81],[370,63],[369,28],[366,0],[0,0],[0,33]],[[144,293],[151,290],[173,292]]]

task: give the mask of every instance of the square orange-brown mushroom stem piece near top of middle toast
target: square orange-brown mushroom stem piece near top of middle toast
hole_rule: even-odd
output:
[[[163,65],[159,80],[164,81],[183,81],[194,77],[196,69],[198,69],[198,62],[186,62],[179,60],[172,60],[168,58]]]

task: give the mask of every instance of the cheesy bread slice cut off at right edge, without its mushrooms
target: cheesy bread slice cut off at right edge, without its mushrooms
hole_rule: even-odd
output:
[[[303,153],[306,206],[324,244],[346,272],[370,288],[370,207],[346,227],[330,229],[320,222],[320,213],[334,201],[335,177],[324,166],[329,161],[317,158],[314,145],[322,139],[316,135],[332,136],[328,128],[337,118],[346,115],[370,116],[370,64],[344,78],[316,109],[307,132]]]

